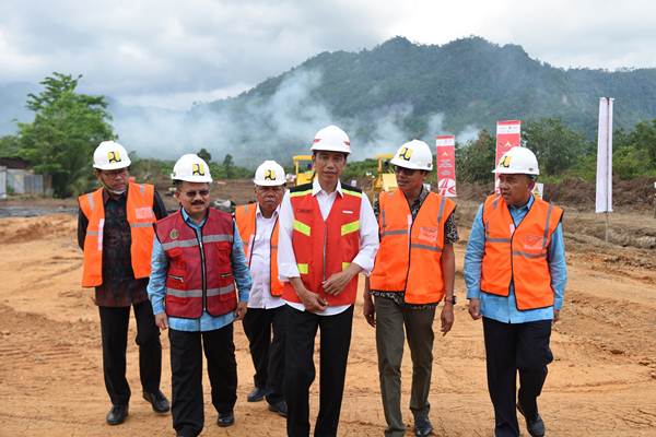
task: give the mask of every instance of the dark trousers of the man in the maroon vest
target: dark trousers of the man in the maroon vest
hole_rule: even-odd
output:
[[[204,424],[202,400],[202,353],[208,361],[212,404],[230,413],[237,401],[237,362],[233,324],[204,332],[168,329],[171,342],[171,412],[178,434],[197,436]]]

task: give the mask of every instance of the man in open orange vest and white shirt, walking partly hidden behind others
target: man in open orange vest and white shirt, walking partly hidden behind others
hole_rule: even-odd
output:
[[[284,380],[284,300],[278,279],[278,215],[284,194],[284,169],[265,161],[255,172],[256,203],[239,205],[235,218],[253,276],[244,332],[255,366],[248,402],[267,399],[269,410],[286,416]]]

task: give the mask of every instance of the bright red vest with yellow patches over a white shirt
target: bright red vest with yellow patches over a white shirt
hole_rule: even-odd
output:
[[[290,190],[294,212],[292,247],[301,280],[307,290],[319,294],[329,306],[351,305],[358,294],[358,276],[337,296],[326,294],[321,284],[333,273],[345,270],[360,252],[362,190],[342,185],[343,196],[336,196],[324,221],[312,189],[312,184],[305,184]],[[301,303],[289,282],[284,283],[282,297]]]

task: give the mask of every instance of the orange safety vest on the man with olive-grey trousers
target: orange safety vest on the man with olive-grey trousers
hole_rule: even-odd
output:
[[[408,304],[435,304],[444,297],[444,224],[456,204],[430,192],[412,220],[401,190],[380,192],[380,248],[370,275],[371,290],[405,292]]]

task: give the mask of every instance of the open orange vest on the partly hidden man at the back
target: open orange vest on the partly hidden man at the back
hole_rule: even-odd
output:
[[[244,240],[244,253],[248,259],[248,268],[250,269],[250,260],[253,258],[253,245],[257,235],[257,204],[241,205],[235,209],[235,220],[237,222],[237,229],[239,229],[239,236]],[[278,280],[278,217],[276,217],[276,224],[273,225],[273,232],[271,233],[270,257],[269,257],[269,273],[271,281],[269,283],[269,293],[272,296],[282,296],[283,285]]]

